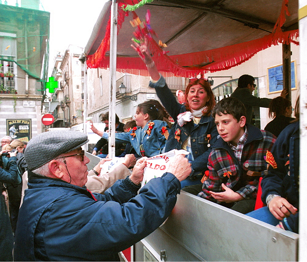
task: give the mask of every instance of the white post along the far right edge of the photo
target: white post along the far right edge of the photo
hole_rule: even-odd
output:
[[[307,161],[305,156],[307,154],[307,0],[298,1],[298,21],[300,33],[300,207],[299,207],[299,256],[298,261],[305,261],[307,257],[307,205],[306,197],[307,191],[305,185],[307,183],[307,176],[305,170],[307,169]]]

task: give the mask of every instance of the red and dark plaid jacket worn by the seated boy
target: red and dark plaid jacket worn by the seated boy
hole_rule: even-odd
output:
[[[241,161],[235,157],[229,145],[219,138],[213,146],[208,159],[209,177],[203,184],[203,191],[199,197],[216,200],[210,196],[209,191],[222,192],[222,183],[228,188],[234,188],[238,182],[244,185],[235,192],[244,198],[256,198],[258,190],[258,178],[251,182],[242,181],[243,172],[248,170],[262,172],[266,170],[267,162],[264,160],[267,150],[271,150],[276,140],[275,136],[257,127],[247,124],[247,141],[244,144]],[[230,179],[224,173],[230,171]],[[241,180],[240,180],[241,179]]]

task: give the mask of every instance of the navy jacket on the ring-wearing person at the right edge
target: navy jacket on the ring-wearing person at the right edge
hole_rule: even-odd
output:
[[[296,208],[299,206],[299,127],[299,121],[290,124],[280,133],[274,143],[272,154],[277,168],[273,169],[270,166],[268,174],[263,176],[261,181],[263,203],[266,203],[268,195],[277,194],[286,198]],[[287,221],[292,231],[296,232],[296,229],[298,231],[298,214],[290,215]]]

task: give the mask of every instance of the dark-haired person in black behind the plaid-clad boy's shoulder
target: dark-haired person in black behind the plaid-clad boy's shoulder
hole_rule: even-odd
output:
[[[290,100],[278,96],[274,98],[269,105],[269,117],[274,118],[269,122],[264,130],[271,132],[278,137],[280,132],[295,120],[292,115],[292,105]]]

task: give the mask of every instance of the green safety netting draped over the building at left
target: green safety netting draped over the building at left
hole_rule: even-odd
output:
[[[0,4],[0,61],[14,62],[42,82],[42,89],[48,74],[49,20],[49,12]],[[8,72],[3,67],[0,73]]]

